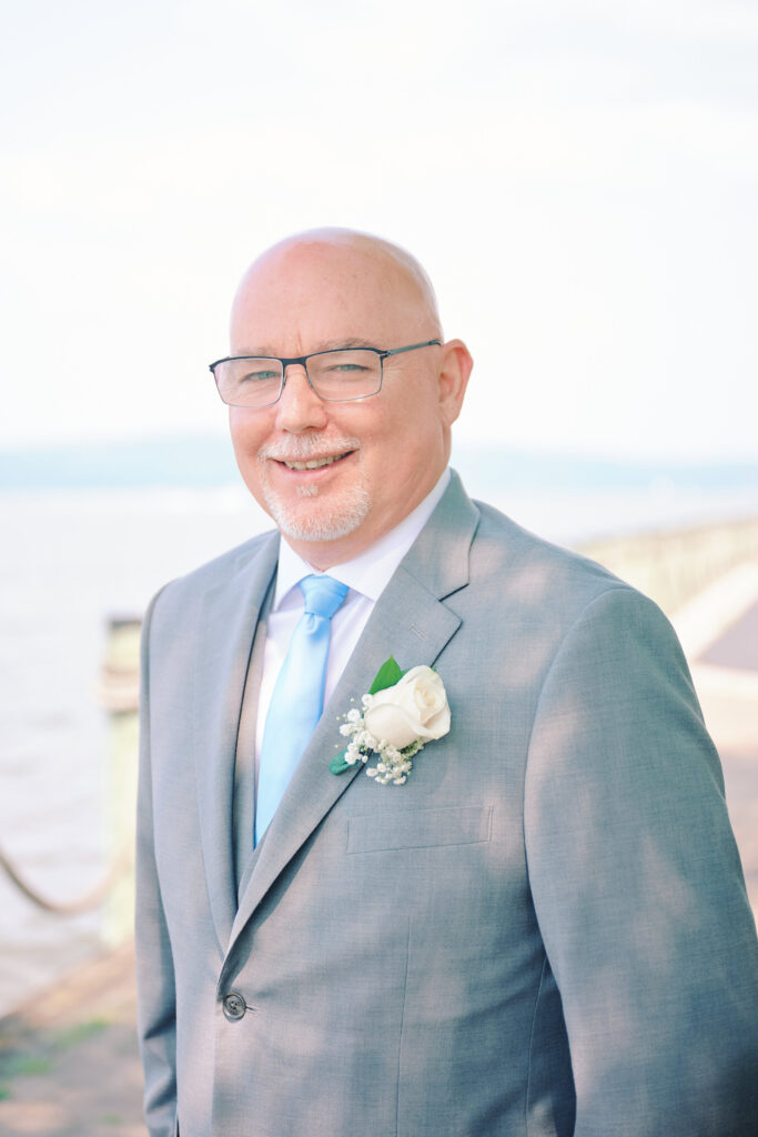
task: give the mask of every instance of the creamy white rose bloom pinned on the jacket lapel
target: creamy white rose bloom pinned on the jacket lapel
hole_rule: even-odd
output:
[[[370,696],[366,730],[401,750],[416,739],[428,742],[450,730],[450,707],[442,680],[431,667],[411,667],[394,687]]]

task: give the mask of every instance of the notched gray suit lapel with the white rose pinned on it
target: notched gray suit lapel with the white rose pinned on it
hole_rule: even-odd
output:
[[[403,670],[432,666],[460,625],[441,598],[468,582],[468,550],[478,513],[453,475],[450,487],[380,597],[358,646],[314,732],[261,844],[232,930],[233,944],[257,905],[298,849],[344,794],[363,764],[330,773],[344,740],[339,720],[360,706],[382,663],[393,655]],[[355,700],[355,704],[351,702]]]

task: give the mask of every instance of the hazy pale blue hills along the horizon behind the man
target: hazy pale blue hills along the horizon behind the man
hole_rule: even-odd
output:
[[[677,466],[460,443],[452,464],[477,492],[653,484],[758,491],[758,463]],[[0,490],[213,488],[239,476],[228,440],[214,435],[0,451]]]

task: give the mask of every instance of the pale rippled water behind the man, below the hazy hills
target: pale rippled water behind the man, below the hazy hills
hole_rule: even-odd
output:
[[[564,543],[758,513],[755,492],[665,488],[494,504]],[[141,615],[166,580],[268,526],[236,487],[0,495],[0,845],[45,896],[76,899],[106,871],[95,689],[108,619]],[[92,953],[101,931],[101,914],[44,913],[0,874],[0,1014]]]

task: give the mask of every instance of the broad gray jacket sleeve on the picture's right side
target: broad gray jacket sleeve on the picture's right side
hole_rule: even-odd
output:
[[[755,1134],[758,943],[720,765],[670,625],[631,589],[552,661],[525,839],[575,1137]]]

